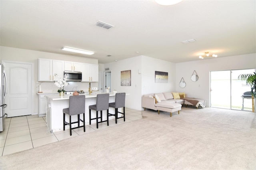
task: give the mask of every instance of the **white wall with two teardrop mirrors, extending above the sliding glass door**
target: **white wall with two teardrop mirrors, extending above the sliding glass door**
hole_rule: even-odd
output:
[[[176,63],[176,91],[185,92],[187,97],[205,99],[206,107],[209,107],[210,71],[252,68],[256,68],[256,53]],[[196,82],[190,79],[194,70],[199,77]],[[185,88],[179,87],[182,77],[186,82]]]

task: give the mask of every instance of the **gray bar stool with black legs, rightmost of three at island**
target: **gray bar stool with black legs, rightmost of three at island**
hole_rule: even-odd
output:
[[[117,119],[124,118],[125,121],[125,93],[116,93],[116,98],[114,103],[109,103],[109,107],[115,108],[115,114],[109,113],[108,116],[114,116],[116,118],[116,123]],[[118,108],[124,108],[124,113],[119,112]],[[123,116],[118,117],[118,113],[121,113]]]

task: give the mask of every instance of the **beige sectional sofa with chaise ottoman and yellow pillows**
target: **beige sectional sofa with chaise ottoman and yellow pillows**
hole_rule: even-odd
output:
[[[179,99],[180,97],[185,97],[185,94],[166,92],[143,95],[142,107],[144,110],[147,108],[158,111],[158,114],[159,111],[168,111],[172,116],[172,112],[178,111],[179,113],[184,104],[184,99]]]

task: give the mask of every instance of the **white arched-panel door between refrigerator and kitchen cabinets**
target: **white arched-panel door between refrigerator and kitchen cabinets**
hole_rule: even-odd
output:
[[[7,77],[7,104],[8,117],[32,114],[32,74],[33,63],[4,62]]]

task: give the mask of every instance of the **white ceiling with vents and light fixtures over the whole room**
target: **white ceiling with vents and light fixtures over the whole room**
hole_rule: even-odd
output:
[[[114,27],[96,26],[98,20]],[[138,55],[180,63],[200,60],[206,51],[218,57],[256,53],[255,0],[184,0],[172,6],[154,0],[1,0],[0,26],[1,46],[98,63]],[[182,43],[191,39],[196,42]],[[95,54],[63,51],[64,46]]]

